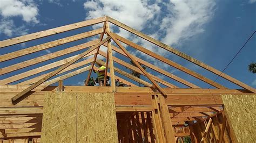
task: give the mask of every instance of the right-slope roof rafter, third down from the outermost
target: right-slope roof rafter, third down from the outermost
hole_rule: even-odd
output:
[[[106,44],[103,44],[103,45],[106,46]],[[113,49],[114,51],[118,52],[119,54],[122,54],[122,55],[124,55],[124,56],[127,57],[127,55],[122,51],[122,49],[119,49],[119,48],[117,48],[117,47],[115,47],[115,46],[112,46],[112,49]],[[132,56],[133,56],[133,55],[132,55]],[[183,78],[180,78],[180,77],[178,77],[178,76],[176,76],[176,75],[173,75],[173,74],[169,73],[168,71],[165,71],[165,70],[163,70],[163,69],[161,69],[161,68],[158,68],[157,66],[152,65],[152,64],[149,63],[149,62],[146,62],[146,61],[144,61],[144,60],[142,60],[142,59],[139,59],[139,58],[137,58],[136,56],[133,56],[133,58],[136,59],[139,63],[142,63],[142,65],[147,66],[148,68],[151,68],[151,69],[157,71],[157,72],[160,73],[160,74],[166,75],[166,76],[172,78],[173,80],[178,81],[178,82],[180,82],[180,83],[182,83],[182,84],[184,84],[184,85],[186,85],[186,86],[188,86],[188,87],[191,87],[191,88],[200,88],[200,87],[198,87],[197,85],[194,85],[193,83],[190,83],[190,82],[184,80]]]

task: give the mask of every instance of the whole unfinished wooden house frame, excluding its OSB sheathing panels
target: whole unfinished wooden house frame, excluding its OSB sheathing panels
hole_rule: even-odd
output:
[[[99,39],[1,68],[0,75],[4,75],[62,55],[86,49],[86,51],[70,56],[69,58],[48,63],[44,66],[0,80],[0,140],[2,139],[3,142],[41,141],[42,116],[45,105],[44,98],[47,92],[97,93],[100,91],[102,93],[111,92],[114,94],[119,142],[182,142],[184,137],[190,137],[192,142],[238,142],[239,139],[234,133],[221,95],[253,95],[256,93],[256,89],[111,17],[106,16],[86,20],[84,22],[3,40],[0,41],[0,48],[8,48],[8,46],[99,23],[104,23],[102,28],[0,55],[0,62],[4,63],[24,55],[99,35]],[[200,75],[164,56],[121,37],[110,30],[110,24],[123,28],[159,48],[163,48],[197,66],[211,71],[213,74],[223,77],[243,89],[228,89],[224,85],[212,81],[210,78]],[[212,85],[215,89],[201,88],[156,65],[152,65],[152,63],[129,53],[122,44],[128,45],[171,67],[196,77],[200,81]],[[100,46],[107,47],[107,52],[101,51]],[[113,52],[129,58],[134,63],[134,66],[113,56]],[[91,55],[93,55],[93,58],[90,58]],[[99,55],[105,57],[106,61],[99,60],[97,58]],[[110,87],[87,86],[92,71],[99,68],[96,63],[105,65],[105,74],[111,77]],[[114,63],[118,63],[144,75],[151,83],[114,67]],[[88,64],[89,66],[85,67]],[[142,65],[156,71],[159,75],[170,77],[172,80],[184,84],[188,88],[179,88],[178,85],[174,85],[159,78],[159,76],[148,73]],[[56,69],[49,73],[28,78],[28,80],[17,84],[10,84],[53,68]],[[69,72],[65,73],[66,71]],[[62,80],[84,73],[85,71],[89,71],[89,74],[87,75],[84,86],[63,85]],[[115,73],[139,82],[145,85],[145,87],[138,87],[136,84],[118,77]],[[131,85],[131,87],[117,87],[115,85],[116,79],[120,79],[125,84]],[[106,78],[104,80],[106,81]],[[58,82],[58,86],[51,85]],[[160,84],[167,88],[163,88]]]

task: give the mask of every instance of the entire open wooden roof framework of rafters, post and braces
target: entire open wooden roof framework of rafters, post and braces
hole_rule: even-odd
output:
[[[221,73],[221,71],[219,71],[217,69],[214,69],[214,68],[206,65],[203,62],[198,61],[197,59],[194,59],[191,56],[188,56],[188,55],[178,51],[177,49],[174,49],[170,46],[167,46],[167,45],[161,43],[160,41],[158,41],[156,39],[153,39],[153,38],[149,37],[148,35],[145,35],[145,34],[139,32],[139,31],[136,31],[133,28],[131,28],[131,27],[129,27],[129,26],[123,24],[123,23],[120,23],[117,20],[115,20],[113,18],[110,18],[110,17],[107,17],[107,16],[102,17],[102,18],[97,18],[97,19],[86,20],[84,22],[79,22],[79,23],[76,23],[76,24],[70,24],[70,25],[66,25],[66,26],[52,28],[52,29],[46,30],[46,31],[36,32],[36,33],[28,34],[28,35],[23,35],[23,36],[17,37],[17,38],[12,38],[12,39],[8,39],[8,40],[0,41],[0,48],[3,48],[3,47],[19,44],[19,43],[22,43],[22,42],[35,40],[35,39],[38,39],[38,38],[48,37],[48,36],[53,35],[53,34],[58,34],[58,33],[66,32],[66,31],[70,31],[70,30],[75,30],[75,29],[81,28],[81,27],[86,27],[86,26],[90,26],[90,25],[94,25],[94,24],[98,24],[98,23],[104,23],[102,28],[98,28],[96,30],[92,30],[92,31],[89,31],[89,32],[84,32],[84,33],[80,33],[80,34],[76,34],[76,35],[71,35],[70,37],[61,38],[61,39],[58,39],[58,40],[53,40],[53,41],[50,41],[50,42],[46,42],[44,44],[40,44],[40,45],[32,46],[32,47],[29,47],[29,48],[21,49],[19,51],[15,51],[15,52],[0,55],[0,62],[5,62],[5,61],[11,60],[11,59],[16,59],[16,58],[19,58],[21,56],[25,56],[25,55],[28,55],[28,54],[31,54],[31,53],[42,51],[44,49],[53,48],[53,47],[56,47],[56,46],[67,44],[69,42],[81,40],[81,39],[84,39],[84,38],[89,38],[89,37],[94,36],[94,35],[99,35],[99,39],[92,40],[92,41],[89,41],[89,42],[86,42],[84,44],[80,44],[80,45],[77,45],[77,46],[72,46],[72,47],[69,47],[69,48],[65,48],[65,49],[62,49],[60,51],[49,53],[49,54],[46,54],[46,55],[43,55],[43,56],[39,56],[39,57],[34,58],[34,59],[30,59],[30,60],[26,60],[26,61],[23,61],[23,62],[20,62],[20,63],[16,63],[16,64],[8,66],[8,67],[4,67],[0,70],[0,75],[4,75],[4,74],[10,73],[10,72],[13,72],[15,70],[19,70],[19,69],[22,69],[22,68],[25,68],[25,67],[29,67],[29,66],[35,65],[39,62],[44,62],[44,61],[47,61],[47,60],[51,60],[51,59],[57,58],[59,56],[63,56],[63,55],[70,54],[70,53],[73,53],[73,52],[80,52],[83,49],[87,49],[87,48],[90,47],[85,52],[82,52],[78,55],[71,56],[69,58],[59,60],[59,61],[56,61],[56,62],[52,62],[52,63],[49,63],[48,65],[45,65],[45,66],[42,66],[42,67],[39,67],[39,68],[35,68],[35,69],[31,69],[29,71],[25,71],[24,73],[14,75],[14,76],[9,77],[9,78],[4,78],[3,80],[0,81],[0,84],[1,85],[10,84],[12,82],[21,80],[23,78],[41,73],[43,71],[46,71],[46,70],[49,70],[49,69],[52,69],[52,68],[55,68],[55,67],[58,67],[56,70],[51,71],[47,74],[43,74],[43,75],[31,78],[30,80],[26,80],[26,81],[23,81],[23,82],[19,83],[18,85],[30,85],[30,84],[32,84],[32,85],[30,85],[30,87],[26,88],[22,92],[19,92],[19,94],[17,94],[16,96],[14,96],[12,98],[12,101],[14,103],[16,103],[16,102],[20,101],[24,97],[25,94],[27,94],[32,89],[35,89],[39,85],[48,86],[52,83],[58,82],[58,80],[64,80],[66,78],[75,76],[79,73],[83,73],[83,72],[89,70],[89,74],[87,75],[86,82],[85,82],[85,85],[87,85],[87,83],[89,81],[89,78],[91,76],[92,70],[97,69],[97,67],[95,66],[95,63],[100,63],[102,65],[106,65],[107,67],[109,67],[110,68],[110,73],[107,72],[107,68],[106,68],[105,73],[110,75],[110,77],[114,77],[114,78],[111,78],[111,80],[112,80],[111,83],[113,83],[112,84],[112,91],[116,91],[116,86],[114,85],[114,79],[116,79],[116,78],[120,79],[120,77],[117,77],[116,75],[114,75],[114,71],[132,79],[133,81],[142,83],[142,84],[146,85],[147,87],[156,88],[165,97],[167,96],[167,94],[158,83],[161,83],[161,84],[163,84],[163,85],[165,85],[166,87],[169,87],[169,88],[178,88],[177,85],[174,85],[174,84],[172,84],[170,82],[167,82],[167,81],[165,81],[165,80],[163,80],[163,79],[161,79],[157,76],[154,76],[152,74],[147,73],[147,71],[140,64],[142,64],[142,65],[144,65],[148,68],[151,68],[151,69],[157,71],[160,74],[163,74],[167,77],[170,77],[175,81],[178,81],[178,82],[180,82],[184,85],[187,85],[190,88],[200,88],[197,85],[184,80],[183,78],[180,78],[176,75],[173,75],[173,74],[169,73],[168,71],[165,71],[165,70],[157,67],[156,65],[152,65],[151,63],[146,62],[146,61],[130,54],[125,49],[125,47],[121,44],[121,43],[123,43],[123,44],[126,44],[126,45],[140,51],[140,52],[143,52],[147,55],[150,55],[153,58],[156,58],[157,60],[160,60],[160,61],[166,63],[167,65],[170,65],[174,68],[177,68],[181,71],[184,71],[186,74],[191,75],[193,77],[196,77],[199,80],[201,80],[201,81],[203,81],[207,84],[213,85],[213,87],[215,87],[215,88],[227,89],[223,85],[221,85],[217,82],[214,82],[214,81],[210,80],[209,78],[196,73],[193,70],[190,70],[190,69],[188,69],[184,66],[181,66],[176,62],[173,62],[169,59],[166,59],[164,56],[158,55],[158,54],[150,51],[149,49],[146,49],[145,47],[139,46],[139,45],[135,44],[134,42],[132,42],[130,40],[127,40],[127,39],[121,37],[120,35],[118,35],[116,33],[111,32],[109,22],[118,26],[118,27],[123,28],[126,31],[129,31],[129,32],[131,32],[135,35],[138,35],[138,37],[143,38],[143,39],[151,42],[152,44],[157,45],[158,47],[166,49],[166,51],[169,51],[173,54],[176,54],[176,55],[180,56],[181,58],[186,59],[187,61],[190,61],[190,62],[192,62],[192,63],[194,63],[194,64],[196,64],[196,65],[198,65],[198,66],[200,66],[204,69],[207,69],[208,71],[211,71],[212,73],[214,73],[216,75],[219,75],[219,76],[225,78],[226,80],[231,81],[232,83],[237,84],[240,87],[242,87],[242,88],[244,88],[244,89],[246,89],[250,92],[254,92],[254,93],[256,92],[256,90],[254,88],[246,85],[245,83],[242,83],[242,82],[236,80],[233,77],[230,77],[230,76],[228,76],[224,73]],[[107,37],[105,39],[104,39],[104,34],[107,35]],[[115,47],[111,44],[111,39],[112,39],[112,41],[114,41],[118,45],[118,47]],[[101,45],[104,45],[105,47],[107,47],[107,52],[100,51],[99,47]],[[131,59],[131,61],[133,61],[135,65],[132,66],[129,63],[127,63],[123,60],[120,60],[117,57],[113,56],[112,55],[112,50],[121,54],[121,55],[126,56],[129,59]],[[94,55],[94,57],[77,62],[78,60],[80,60],[82,58],[85,58],[87,56],[90,56],[90,55]],[[104,56],[106,58],[106,62],[98,60],[97,59],[98,55]],[[127,67],[131,70],[137,71],[138,73],[146,76],[152,82],[152,84],[149,83],[149,82],[146,82],[146,81],[144,81],[140,78],[132,76],[131,74],[126,73],[125,71],[123,71],[123,70],[121,70],[117,67],[114,67],[113,62],[116,62],[119,65]],[[84,65],[89,64],[89,63],[91,63],[90,66],[83,67]],[[79,68],[79,69],[77,69],[77,68]],[[73,70],[73,69],[75,69],[75,71],[72,71],[68,74],[61,75],[59,77],[55,77],[55,78],[50,79],[51,77],[53,77],[55,75],[62,74],[65,71],[69,71],[69,70]],[[122,79],[122,80],[125,83],[128,83],[132,86],[136,86],[136,85],[134,85],[133,83],[131,83],[129,81],[126,81],[124,79]]]

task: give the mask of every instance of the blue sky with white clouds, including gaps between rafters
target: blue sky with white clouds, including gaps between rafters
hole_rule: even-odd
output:
[[[256,30],[256,1],[79,1],[79,0],[0,0],[0,40],[5,40],[19,35],[47,30],[49,28],[63,26],[71,23],[80,22],[86,19],[92,19],[108,15],[120,22],[129,25],[136,30],[142,31],[151,37],[164,42],[167,45],[173,46],[180,51],[193,56],[194,58],[207,63],[208,65],[223,70],[230,62],[235,53],[240,49],[248,37]],[[5,47],[0,49],[0,53],[6,54],[31,47],[44,42],[67,37],[72,34],[77,34],[85,31],[90,31],[102,25],[89,26],[78,30],[53,35],[43,39],[37,39],[25,44]],[[206,71],[198,66],[187,62],[176,55],[166,52],[164,49],[156,47],[145,40],[131,35],[129,32],[111,26],[114,32],[126,37],[133,42],[137,42],[153,52],[161,54],[168,59],[171,59],[180,65],[197,71],[212,80],[215,80],[217,75]],[[36,58],[37,56],[45,55],[60,49],[82,44],[91,39],[78,40],[62,46],[57,46],[36,52],[17,59],[2,62],[0,68],[8,67],[14,63]],[[124,45],[126,46],[126,45]],[[134,55],[142,58],[154,65],[184,78],[199,87],[208,88],[209,85],[197,80],[196,78],[187,75],[179,70],[176,70],[164,63],[150,58],[138,51],[134,51],[129,46],[126,48]],[[102,48],[106,50],[105,48]],[[81,52],[81,51],[80,51]],[[34,66],[26,67],[12,73],[0,76],[0,80],[8,78],[12,75],[23,73],[24,71],[41,67],[45,64],[68,58],[69,56],[78,54],[75,52],[56,59],[38,63]],[[224,73],[237,78],[238,80],[256,88],[256,75],[249,73],[247,66],[251,62],[256,62],[256,35],[242,49],[237,58],[224,71]],[[123,56],[114,54],[114,56],[129,62]],[[103,59],[104,60],[104,59]],[[129,71],[124,67],[117,65],[119,68]],[[33,75],[23,80],[11,83],[28,80],[29,78],[48,73],[56,68]],[[157,75],[166,81],[178,85],[181,88],[186,88],[185,85],[171,80],[169,77],[159,75],[151,69],[147,69],[151,74]],[[123,77],[117,74],[120,77]],[[82,73],[64,81],[64,85],[80,85],[83,83],[87,73]],[[95,74],[93,74],[96,77]],[[125,78],[125,77],[123,77]],[[125,78],[128,80],[127,78]],[[147,81],[145,77],[144,80]],[[131,80],[129,80],[131,81]],[[225,85],[228,88],[240,88],[223,78],[217,80],[218,83]]]

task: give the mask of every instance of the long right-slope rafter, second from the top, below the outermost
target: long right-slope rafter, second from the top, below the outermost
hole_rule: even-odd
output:
[[[213,85],[213,87],[216,87],[216,88],[219,88],[219,89],[226,89],[223,85],[220,85],[219,83],[216,83],[216,82],[214,82],[214,81],[212,81],[212,80],[210,80],[210,79],[208,79],[208,78],[206,78],[206,77],[204,77],[204,76],[194,72],[193,70],[190,70],[190,69],[188,69],[188,68],[186,68],[184,66],[181,66],[181,65],[179,65],[176,62],[173,62],[173,61],[171,61],[169,59],[166,59],[166,58],[164,58],[164,56],[158,55],[158,54],[156,54],[156,53],[154,53],[154,52],[152,52],[152,51],[150,51],[150,50],[148,50],[148,49],[146,49],[146,48],[144,48],[142,46],[139,46],[139,45],[133,43],[132,41],[127,40],[127,39],[121,37],[120,35],[117,35],[117,34],[114,34],[114,33],[111,33],[111,34],[113,34],[119,41],[123,42],[124,44],[127,44],[127,45],[129,45],[129,46],[131,46],[131,47],[133,47],[133,48],[135,48],[135,49],[137,49],[137,50],[147,54],[147,55],[152,56],[153,58],[156,58],[156,59],[158,59],[158,60],[160,60],[160,61],[162,61],[164,63],[167,63],[168,65],[170,65],[170,66],[172,66],[174,68],[177,68],[177,69],[179,69],[181,71],[184,71],[185,73],[187,73],[187,74],[189,74],[189,75],[191,75],[193,77],[196,77],[196,78],[198,78],[201,81],[204,81],[204,82],[206,82],[206,83],[208,83],[210,85]]]

